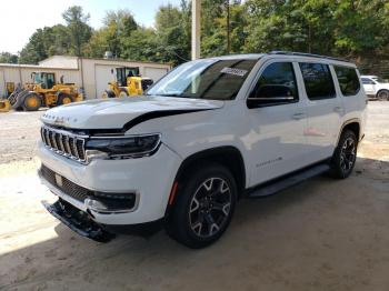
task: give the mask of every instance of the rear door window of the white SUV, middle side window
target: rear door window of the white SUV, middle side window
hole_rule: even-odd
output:
[[[300,63],[303,83],[310,100],[335,98],[335,86],[328,64]]]

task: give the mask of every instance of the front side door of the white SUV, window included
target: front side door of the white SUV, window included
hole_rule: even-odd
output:
[[[307,162],[307,113],[305,100],[299,97],[297,63],[272,60],[262,68],[250,93],[250,99],[262,99],[261,104],[248,110],[251,130],[242,138],[251,149],[251,185],[298,170]],[[282,88],[289,88],[292,98],[279,93]],[[272,98],[281,101],[273,101]],[[282,98],[286,100],[282,101]]]

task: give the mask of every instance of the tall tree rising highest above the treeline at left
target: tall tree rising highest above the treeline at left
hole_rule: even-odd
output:
[[[88,24],[90,16],[83,13],[82,7],[73,6],[62,13],[62,18],[68,27],[71,53],[81,57],[84,44],[92,36],[92,28]]]

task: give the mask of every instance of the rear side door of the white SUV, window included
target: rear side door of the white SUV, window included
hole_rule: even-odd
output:
[[[303,94],[307,98],[308,142],[310,163],[332,155],[345,109],[335,88],[335,74],[327,63],[300,62]]]

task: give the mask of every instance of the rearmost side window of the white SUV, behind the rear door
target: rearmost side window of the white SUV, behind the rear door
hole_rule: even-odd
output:
[[[356,69],[333,66],[337,73],[340,91],[343,96],[355,96],[359,92],[360,84]]]

